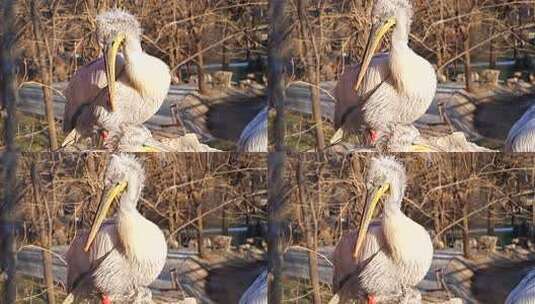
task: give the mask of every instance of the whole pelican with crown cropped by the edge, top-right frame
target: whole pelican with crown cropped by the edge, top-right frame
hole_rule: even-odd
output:
[[[334,144],[345,132],[367,131],[371,143],[388,136],[392,125],[407,125],[420,118],[433,101],[437,77],[431,63],[408,45],[412,6],[409,0],[377,0],[362,64],[347,69],[334,95]],[[389,53],[374,56],[389,29]]]

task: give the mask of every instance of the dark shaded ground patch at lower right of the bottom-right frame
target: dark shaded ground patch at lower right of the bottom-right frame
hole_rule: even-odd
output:
[[[472,292],[481,303],[504,303],[507,295],[522,280],[535,261],[494,265],[477,271],[472,278]]]

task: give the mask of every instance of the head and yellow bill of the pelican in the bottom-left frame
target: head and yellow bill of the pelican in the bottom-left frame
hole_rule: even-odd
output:
[[[84,250],[87,252],[93,243],[100,226],[114,199],[122,196],[129,188],[127,199],[121,199],[120,209],[132,210],[136,208],[137,198],[141,193],[145,171],[138,160],[131,155],[112,155],[104,178],[104,191],[98,204],[97,214],[91,225]],[[136,183],[132,185],[133,183]]]

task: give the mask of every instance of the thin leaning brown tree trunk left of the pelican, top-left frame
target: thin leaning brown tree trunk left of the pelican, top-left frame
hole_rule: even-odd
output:
[[[46,60],[46,50],[45,48],[48,47],[48,39],[44,36],[41,22],[41,14],[39,13],[39,9],[37,8],[37,3],[35,0],[31,1],[31,15],[32,15],[32,26],[33,26],[33,34],[35,38],[35,49],[36,49],[36,56],[37,56],[37,62],[39,63],[39,75],[41,78],[41,81],[43,82],[43,98],[45,102],[45,116],[46,121],[48,124],[48,141],[50,145],[50,150],[54,151],[58,149],[58,139],[57,139],[57,132],[56,132],[56,121],[54,118],[54,103],[52,100],[52,91],[50,90],[50,87],[52,87],[52,62],[47,63]]]

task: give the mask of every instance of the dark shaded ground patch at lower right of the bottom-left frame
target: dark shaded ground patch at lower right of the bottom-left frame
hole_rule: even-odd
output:
[[[208,271],[206,294],[216,303],[238,303],[266,267],[265,262],[234,261]]]

